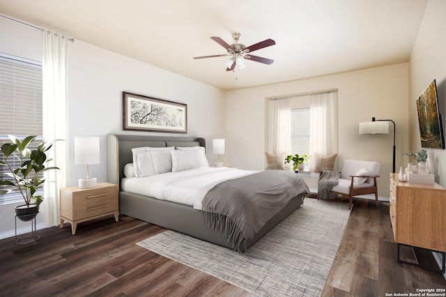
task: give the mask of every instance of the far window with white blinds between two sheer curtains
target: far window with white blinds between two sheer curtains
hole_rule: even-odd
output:
[[[309,155],[310,107],[291,109],[291,152]]]

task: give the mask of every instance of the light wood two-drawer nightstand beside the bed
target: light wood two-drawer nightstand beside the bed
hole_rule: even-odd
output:
[[[61,228],[63,222],[71,223],[71,233],[76,234],[77,223],[114,215],[118,222],[118,185],[98,183],[96,188],[61,189]]]

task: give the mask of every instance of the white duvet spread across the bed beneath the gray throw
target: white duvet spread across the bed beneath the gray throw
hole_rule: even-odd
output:
[[[230,167],[202,167],[182,172],[123,178],[121,188],[125,192],[187,204],[201,210],[201,200],[214,185],[254,173],[256,172]]]

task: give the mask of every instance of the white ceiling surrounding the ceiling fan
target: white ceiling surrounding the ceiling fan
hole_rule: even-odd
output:
[[[407,62],[428,0],[0,0],[0,13],[68,33],[223,90]],[[271,65],[226,72],[210,39],[246,46]]]

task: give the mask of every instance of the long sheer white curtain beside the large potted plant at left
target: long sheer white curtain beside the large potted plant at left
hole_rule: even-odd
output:
[[[45,172],[45,227],[59,224],[59,190],[68,185],[67,44],[68,36],[43,31],[43,137],[56,142],[48,151],[48,166],[60,170]]]

